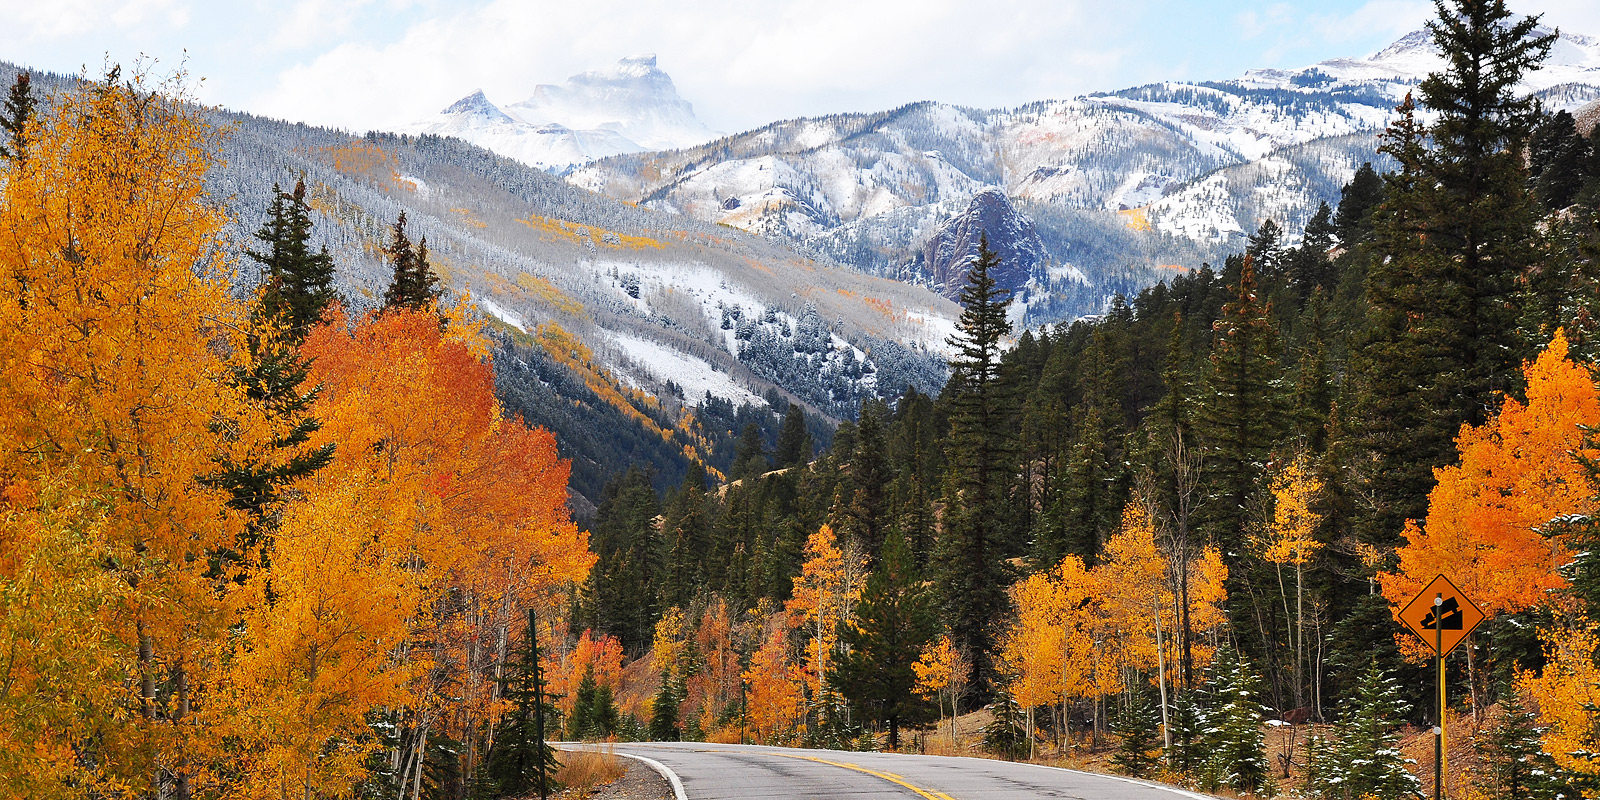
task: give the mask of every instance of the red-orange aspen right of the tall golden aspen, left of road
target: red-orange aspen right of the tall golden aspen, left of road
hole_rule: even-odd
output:
[[[374,522],[366,536],[418,587],[390,651],[408,670],[406,698],[389,707],[403,739],[390,766],[416,784],[430,730],[454,726],[470,744],[494,714],[514,618],[581,581],[594,555],[568,518],[554,438],[501,418],[470,328],[430,310],[349,325],[334,310],[301,352],[323,386],[318,435],[341,453],[307,491],[357,493]],[[469,746],[469,765],[475,757]]]

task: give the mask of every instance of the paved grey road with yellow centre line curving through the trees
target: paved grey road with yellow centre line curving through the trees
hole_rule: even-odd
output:
[[[1144,781],[987,758],[702,742],[618,744],[614,752],[666,768],[678,779],[680,800],[1211,800]]]

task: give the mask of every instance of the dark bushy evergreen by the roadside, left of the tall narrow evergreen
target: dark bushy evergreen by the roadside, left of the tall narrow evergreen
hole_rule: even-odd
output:
[[[888,725],[891,750],[899,749],[902,723],[928,720],[928,702],[915,691],[912,664],[938,632],[933,602],[910,550],[891,533],[856,605],[856,621],[845,626],[846,650],[835,664],[845,698],[864,717]]]

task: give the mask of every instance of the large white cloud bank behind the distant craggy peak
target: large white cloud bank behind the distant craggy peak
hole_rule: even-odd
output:
[[[1024,102],[1104,88],[1130,18],[1091,0],[699,3],[499,0],[347,42],[283,70],[250,107],[392,128],[472,88],[514,102],[538,82],[658,53],[712,126],[882,109],[914,99]]]

